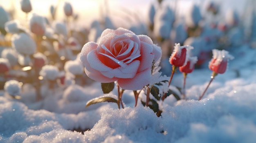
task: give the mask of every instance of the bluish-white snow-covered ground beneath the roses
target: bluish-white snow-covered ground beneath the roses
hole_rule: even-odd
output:
[[[243,45],[231,54],[227,72],[216,76],[202,100],[197,101],[210,80],[208,68],[188,74],[187,100],[169,96],[162,117],[141,104],[134,108],[130,92],[124,92],[124,109],[107,102],[85,108],[103,95],[98,82],[45,91],[54,94],[45,93],[40,102],[33,101],[29,85],[22,87],[21,101],[1,91],[0,143],[254,143],[256,50]],[[182,78],[177,73],[173,85],[181,87]]]

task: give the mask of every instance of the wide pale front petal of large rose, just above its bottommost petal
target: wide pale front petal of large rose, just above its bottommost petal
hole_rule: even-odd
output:
[[[134,78],[139,68],[140,62],[138,60],[128,64],[125,68],[119,67],[107,72],[101,72],[108,78]]]

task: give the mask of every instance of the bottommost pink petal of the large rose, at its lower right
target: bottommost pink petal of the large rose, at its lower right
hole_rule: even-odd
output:
[[[151,68],[137,73],[132,79],[118,79],[118,85],[126,90],[141,90],[150,82]]]

